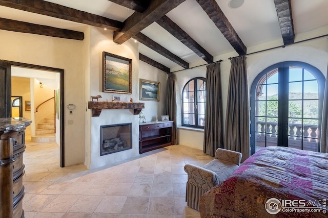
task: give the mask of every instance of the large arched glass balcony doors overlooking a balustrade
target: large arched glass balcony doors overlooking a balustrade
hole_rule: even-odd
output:
[[[319,151],[324,84],[303,62],[264,69],[251,87],[251,154],[268,146]]]

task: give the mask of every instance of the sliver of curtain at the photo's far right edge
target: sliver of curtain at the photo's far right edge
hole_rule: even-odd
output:
[[[321,124],[321,140],[320,140],[320,152],[328,153],[328,67],[326,84],[324,87],[323,96],[323,109],[322,109],[322,124]]]

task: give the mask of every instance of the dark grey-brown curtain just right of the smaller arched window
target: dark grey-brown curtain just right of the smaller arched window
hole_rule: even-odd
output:
[[[215,156],[217,148],[223,148],[222,94],[220,63],[207,66],[206,103],[203,152]]]

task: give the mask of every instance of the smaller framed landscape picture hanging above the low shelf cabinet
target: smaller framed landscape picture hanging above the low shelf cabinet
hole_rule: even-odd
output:
[[[158,101],[160,83],[150,80],[139,79],[139,100]]]

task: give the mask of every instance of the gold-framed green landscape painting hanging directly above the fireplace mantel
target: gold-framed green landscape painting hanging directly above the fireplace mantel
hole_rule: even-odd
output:
[[[132,59],[103,52],[103,92],[132,93]]]

